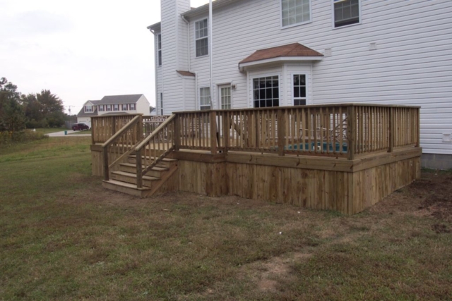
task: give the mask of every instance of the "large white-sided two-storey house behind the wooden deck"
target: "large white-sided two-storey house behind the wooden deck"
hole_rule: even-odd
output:
[[[157,114],[418,105],[424,166],[452,168],[452,1],[217,0],[213,49],[208,5],[161,0],[161,11],[148,27]]]

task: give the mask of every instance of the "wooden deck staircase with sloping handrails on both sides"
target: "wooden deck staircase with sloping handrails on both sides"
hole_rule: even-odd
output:
[[[149,197],[177,171],[177,160],[166,158],[174,150],[174,116],[148,137],[141,133],[139,117],[102,145],[102,186],[136,197]]]

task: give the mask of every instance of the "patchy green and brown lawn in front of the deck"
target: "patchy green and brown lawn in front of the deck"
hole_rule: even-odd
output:
[[[136,199],[90,176],[89,143],[0,149],[0,300],[452,299],[451,222],[420,214],[416,187],[355,216]]]

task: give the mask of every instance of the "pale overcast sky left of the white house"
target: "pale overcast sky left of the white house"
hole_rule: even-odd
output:
[[[50,90],[72,113],[114,94],[145,94],[155,106],[146,27],[157,22],[159,0],[0,0],[0,78],[23,94]]]

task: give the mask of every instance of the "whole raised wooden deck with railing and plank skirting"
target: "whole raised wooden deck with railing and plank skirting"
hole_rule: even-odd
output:
[[[93,174],[108,183],[133,155],[136,171],[128,185],[143,197],[151,190],[143,177],[156,173],[165,158],[175,159],[177,167],[162,175],[153,195],[239,195],[345,214],[420,177],[418,107],[182,112],[155,122],[152,131],[146,130],[150,122],[143,116],[94,118]]]

